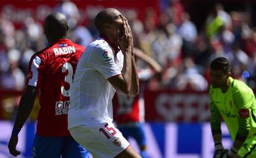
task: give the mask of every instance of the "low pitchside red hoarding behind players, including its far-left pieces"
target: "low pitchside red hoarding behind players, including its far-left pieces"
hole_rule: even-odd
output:
[[[17,106],[22,91],[0,91],[0,119],[9,119],[6,107]],[[36,99],[32,117],[36,118],[39,102]],[[210,118],[207,92],[196,91],[145,91],[146,122],[205,122]],[[12,105],[11,105],[12,104]],[[9,112],[8,112],[9,111]]]

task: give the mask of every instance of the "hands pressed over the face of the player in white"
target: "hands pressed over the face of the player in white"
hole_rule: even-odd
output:
[[[122,17],[122,30],[121,36],[119,37],[119,47],[122,52],[126,52],[127,49],[132,49],[133,46],[132,31],[128,24],[128,20]]]

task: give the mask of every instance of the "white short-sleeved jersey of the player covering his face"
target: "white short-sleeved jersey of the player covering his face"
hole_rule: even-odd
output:
[[[115,53],[108,42],[96,39],[79,59],[71,86],[68,128],[113,121],[116,91],[107,79],[121,74],[124,56],[121,51]]]

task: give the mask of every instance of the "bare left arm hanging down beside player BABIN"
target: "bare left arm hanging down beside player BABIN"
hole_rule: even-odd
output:
[[[20,99],[18,114],[15,119],[11,138],[8,143],[9,152],[10,154],[12,154],[12,156],[18,156],[20,154],[20,151],[17,151],[16,149],[19,140],[18,133],[26,122],[28,116],[30,115],[30,112],[35,102],[37,91],[38,88],[36,88],[35,86],[27,86],[27,88],[25,89],[25,93]]]

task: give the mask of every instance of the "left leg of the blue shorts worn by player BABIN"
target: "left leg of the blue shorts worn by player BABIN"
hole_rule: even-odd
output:
[[[61,137],[46,137],[35,135],[32,154],[34,158],[61,157],[63,139]]]

